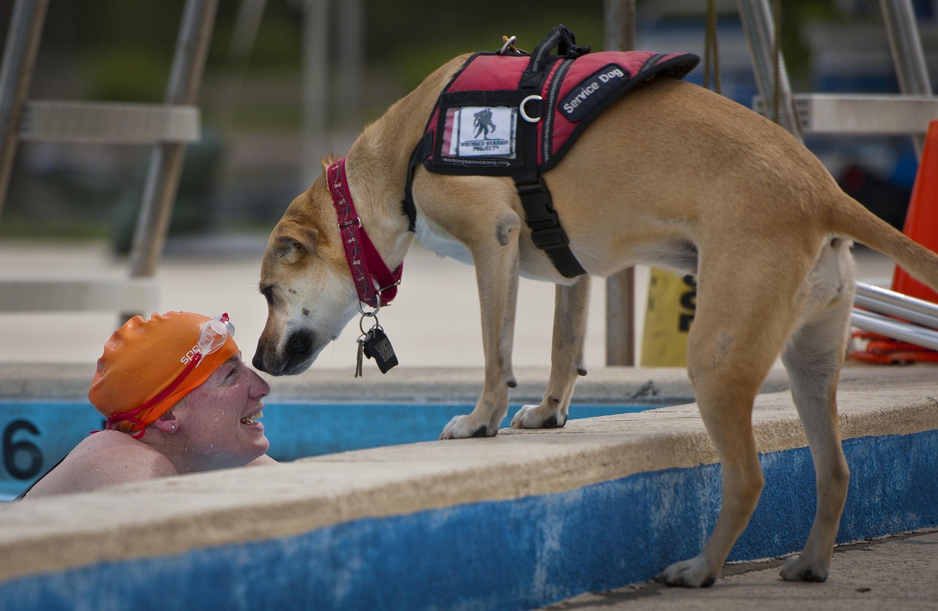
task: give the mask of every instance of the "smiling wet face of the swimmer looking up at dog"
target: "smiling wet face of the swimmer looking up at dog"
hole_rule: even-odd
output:
[[[186,395],[173,409],[173,430],[174,438],[185,438],[174,441],[188,470],[240,467],[264,455],[270,442],[258,420],[269,392],[238,352]]]

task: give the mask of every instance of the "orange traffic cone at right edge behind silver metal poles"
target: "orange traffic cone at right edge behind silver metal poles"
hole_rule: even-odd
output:
[[[905,215],[902,232],[918,244],[938,252],[938,120],[929,124],[922,160],[915,173],[912,201]],[[892,290],[938,303],[938,292],[932,291],[903,270],[899,265],[892,276]],[[854,339],[869,340],[865,350],[853,350],[850,358],[866,363],[911,363],[938,361],[938,352],[897,341],[866,331],[856,331]]]

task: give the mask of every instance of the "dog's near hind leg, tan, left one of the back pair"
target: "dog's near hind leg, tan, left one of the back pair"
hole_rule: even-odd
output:
[[[777,246],[785,247],[772,247]],[[713,259],[719,261],[707,261],[703,247],[701,255],[697,315],[688,335],[688,375],[719,456],[722,505],[703,551],[658,575],[667,584],[691,588],[714,583],[762,493],[752,404],[794,326],[795,295],[810,266],[809,256],[790,254],[786,265],[765,274],[771,269],[765,261],[774,255],[758,243],[718,253]]]

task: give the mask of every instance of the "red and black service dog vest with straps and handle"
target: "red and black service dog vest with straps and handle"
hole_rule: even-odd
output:
[[[558,54],[551,55],[556,47]],[[597,52],[555,27],[534,52],[478,52],[446,85],[411,159],[446,174],[511,176],[532,239],[561,274],[585,274],[570,252],[540,176],[556,166],[598,114],[640,82],[682,79],[700,62],[690,53]],[[628,142],[623,145],[628,146]],[[415,228],[408,176],[404,207]]]

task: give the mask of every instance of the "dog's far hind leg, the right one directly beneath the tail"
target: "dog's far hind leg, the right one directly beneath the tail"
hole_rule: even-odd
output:
[[[841,246],[846,251],[847,246]],[[836,250],[836,246],[835,246]],[[844,253],[846,254],[846,253]],[[854,302],[852,263],[832,278],[823,307],[794,333],[782,352],[792,383],[794,405],[805,427],[817,480],[817,510],[808,543],[790,559],[781,576],[789,581],[825,581],[847,498],[850,470],[840,446],[837,425],[837,380],[847,344],[850,308]],[[833,299],[831,299],[833,297]]]

